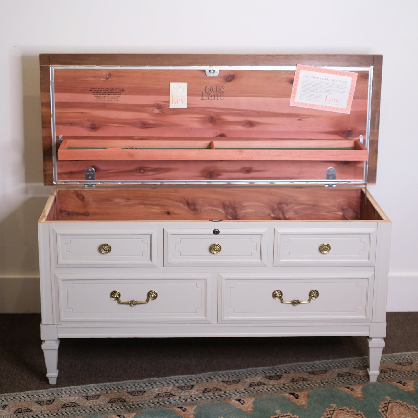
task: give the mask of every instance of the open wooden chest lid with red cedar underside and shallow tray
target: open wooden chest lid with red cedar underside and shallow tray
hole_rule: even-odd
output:
[[[45,184],[375,182],[381,56],[41,54],[40,64]],[[291,106],[297,64],[357,73],[350,113]]]

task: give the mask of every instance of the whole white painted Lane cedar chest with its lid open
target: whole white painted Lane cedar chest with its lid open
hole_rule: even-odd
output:
[[[42,54],[50,383],[60,338],[107,336],[364,335],[376,380],[381,62]],[[296,64],[355,72],[351,112],[290,106]]]

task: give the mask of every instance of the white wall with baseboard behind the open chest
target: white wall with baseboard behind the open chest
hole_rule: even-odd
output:
[[[417,311],[417,14],[412,0],[3,0],[0,312],[39,311],[41,52],[383,54],[370,190],[393,222],[388,309]]]

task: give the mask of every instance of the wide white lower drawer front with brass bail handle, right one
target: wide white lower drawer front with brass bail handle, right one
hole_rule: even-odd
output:
[[[300,320],[361,321],[371,318],[372,274],[288,274],[283,277],[220,274],[220,322],[279,322]],[[273,298],[280,290],[283,301],[308,301],[309,292],[319,297],[293,306]]]

